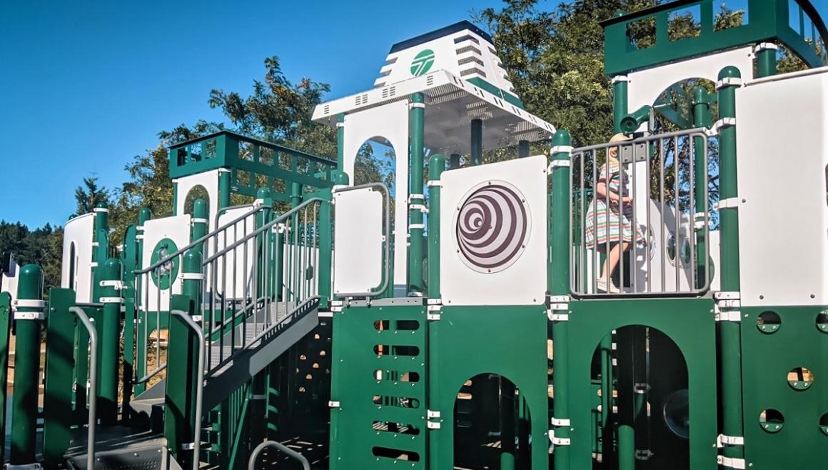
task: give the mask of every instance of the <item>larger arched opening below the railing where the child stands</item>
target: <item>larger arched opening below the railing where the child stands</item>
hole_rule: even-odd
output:
[[[595,470],[690,468],[690,395],[681,350],[666,334],[634,325],[595,347],[591,375]],[[637,463],[638,462],[638,463]]]

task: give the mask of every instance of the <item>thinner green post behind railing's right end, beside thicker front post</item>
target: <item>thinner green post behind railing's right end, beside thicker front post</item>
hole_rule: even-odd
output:
[[[693,90],[693,127],[696,128],[709,128],[710,125],[713,123],[712,117],[710,115],[710,96],[705,90],[703,86],[697,86]],[[696,214],[701,214],[704,212],[705,204],[707,203],[707,194],[705,191],[705,185],[707,182],[707,167],[705,166],[705,138],[703,137],[696,137],[693,138],[693,168],[694,168],[694,178],[693,182],[695,183],[696,187],[692,188],[694,201],[693,203],[696,205]],[[696,215],[693,215],[694,219]],[[698,217],[696,222],[701,223],[704,222],[704,217]],[[706,227],[698,225],[696,226],[696,287],[702,287],[705,279],[705,272],[707,269],[708,264],[708,252],[707,252],[707,240],[705,240],[705,234],[707,233]],[[709,277],[709,276],[706,276]]]

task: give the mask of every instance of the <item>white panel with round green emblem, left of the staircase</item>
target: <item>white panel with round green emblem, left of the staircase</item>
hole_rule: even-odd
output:
[[[164,217],[162,219],[147,220],[144,223],[144,246],[141,254],[142,266],[149,267],[152,263],[152,252],[156,250],[158,242],[164,239],[172,240],[176,245],[176,250],[190,244],[190,216],[173,216]],[[172,254],[170,252],[169,254]],[[152,276],[151,276],[152,277]],[[152,281],[146,282],[146,276],[142,279],[141,288],[142,309],[145,312],[156,312],[159,307],[161,311],[166,311],[170,308],[170,292],[173,294],[181,293],[181,265],[178,269],[178,275],[173,280],[171,289],[161,289]],[[159,303],[159,300],[161,303]]]

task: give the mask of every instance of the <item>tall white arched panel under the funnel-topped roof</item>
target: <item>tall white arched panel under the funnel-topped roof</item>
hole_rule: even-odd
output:
[[[345,116],[344,164],[354,183],[357,152],[369,138],[382,137],[394,149],[397,167],[394,176],[394,271],[396,296],[407,295],[408,235],[408,103],[397,101]]]

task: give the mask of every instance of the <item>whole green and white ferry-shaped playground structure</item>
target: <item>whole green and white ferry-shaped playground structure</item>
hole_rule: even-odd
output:
[[[9,468],[825,468],[828,31],[806,0],[716,30],[714,3],[603,23],[622,143],[573,148],[460,22],[315,109],[336,160],[172,146],[172,216],[119,250],[105,207],[70,220],[48,300],[3,261]],[[777,75],[778,45],[811,69]],[[366,142],[391,187],[354,181]],[[636,229],[617,293],[585,237],[611,152]]]

